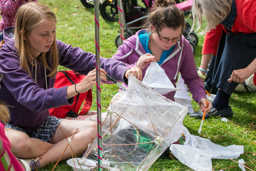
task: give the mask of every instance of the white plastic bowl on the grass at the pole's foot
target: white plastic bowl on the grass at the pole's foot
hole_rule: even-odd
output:
[[[77,159],[78,159],[78,161],[79,161],[81,158],[77,158]],[[81,169],[80,165],[78,165],[77,159],[74,158],[75,165],[74,165],[73,159],[68,159],[68,160],[67,160],[67,164],[68,164],[69,166],[71,166],[74,171],[75,171],[75,170],[77,170],[77,171],[91,171],[91,168],[95,168],[95,167],[96,167],[96,163],[95,163],[93,160],[87,159],[87,160],[86,160],[86,165],[87,165],[87,166],[90,166],[91,168],[89,168],[89,167],[87,167],[87,166],[84,166],[84,165],[81,165],[81,167],[82,167],[82,169]],[[92,166],[93,166],[93,167],[92,167]]]

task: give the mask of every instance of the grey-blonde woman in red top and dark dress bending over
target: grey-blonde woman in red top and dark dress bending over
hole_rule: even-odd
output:
[[[255,0],[194,0],[193,26],[202,15],[208,25],[205,34],[199,76],[205,87],[217,87],[212,109],[205,118],[232,117],[229,98],[239,83],[256,72],[256,1]],[[208,64],[210,63],[209,67]],[[207,71],[207,72],[206,72]],[[190,117],[202,118],[201,111]]]

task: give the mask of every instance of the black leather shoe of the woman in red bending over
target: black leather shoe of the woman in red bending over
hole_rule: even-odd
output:
[[[202,119],[203,112],[200,110],[195,113],[190,113],[188,116]],[[210,112],[205,114],[204,118],[208,119],[208,118],[210,118],[210,116],[212,116],[212,117],[213,116],[221,116],[221,117],[229,118],[229,117],[233,117],[233,111],[231,109],[231,106],[228,106],[226,109],[219,110],[219,111],[217,111],[215,108],[211,107]]]

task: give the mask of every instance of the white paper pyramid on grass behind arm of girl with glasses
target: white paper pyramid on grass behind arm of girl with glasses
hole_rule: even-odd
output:
[[[194,113],[194,110],[191,104],[192,99],[188,95],[186,85],[184,84],[184,80],[182,79],[181,75],[179,75],[176,88],[181,90],[175,92],[175,95],[174,95],[175,102],[181,105],[187,106],[188,113]]]

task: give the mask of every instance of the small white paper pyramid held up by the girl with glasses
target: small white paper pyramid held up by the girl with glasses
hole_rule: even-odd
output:
[[[142,83],[161,95],[177,90],[157,62],[150,63]]]

